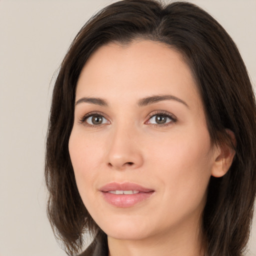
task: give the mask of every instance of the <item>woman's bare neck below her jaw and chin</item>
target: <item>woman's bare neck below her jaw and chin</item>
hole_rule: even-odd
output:
[[[203,256],[200,225],[189,224],[185,221],[183,226],[143,239],[120,240],[108,236],[109,256]]]

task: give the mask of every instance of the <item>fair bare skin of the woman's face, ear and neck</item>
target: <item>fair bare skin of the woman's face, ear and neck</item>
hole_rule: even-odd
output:
[[[175,98],[138,105],[153,95]],[[149,40],[103,45],[85,63],[75,101],[69,153],[82,201],[108,235],[109,255],[203,255],[207,184],[211,175],[225,174],[233,153],[211,145],[200,96],[181,55]],[[100,114],[102,123],[83,118],[90,112]],[[173,119],[161,126],[155,115],[162,113]],[[112,181],[134,182],[154,193],[131,207],[116,207],[99,191]]]

